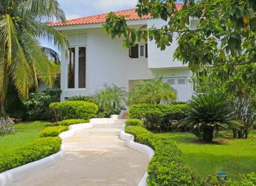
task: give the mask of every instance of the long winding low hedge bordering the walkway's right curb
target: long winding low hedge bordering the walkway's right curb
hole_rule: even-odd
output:
[[[216,176],[201,180],[195,178],[189,167],[182,162],[181,152],[173,140],[156,137],[153,133],[139,126],[126,126],[125,132],[134,135],[136,142],[154,149],[154,156],[147,168],[147,184],[154,186],[169,185],[225,185],[248,186],[256,185],[256,173],[241,175],[239,180],[222,180],[218,182]]]

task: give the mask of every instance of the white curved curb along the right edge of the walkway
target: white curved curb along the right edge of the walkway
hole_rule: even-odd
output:
[[[141,153],[146,155],[148,161],[150,162],[151,158],[154,155],[153,149],[151,149],[149,146],[146,146],[144,144],[138,144],[134,142],[134,136],[128,133],[125,133],[124,130],[122,130],[120,138],[121,140],[127,141],[127,146],[129,146],[129,148],[134,149],[136,151],[140,151]],[[143,178],[141,179],[140,183],[138,184],[138,186],[147,186],[147,176],[148,174],[146,172]]]

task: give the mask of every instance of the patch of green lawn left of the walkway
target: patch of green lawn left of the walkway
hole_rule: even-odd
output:
[[[0,155],[18,149],[20,146],[39,137],[42,129],[51,123],[45,121],[33,121],[15,125],[15,133],[0,136]]]

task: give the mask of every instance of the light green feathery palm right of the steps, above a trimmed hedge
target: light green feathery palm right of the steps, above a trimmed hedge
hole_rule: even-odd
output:
[[[160,103],[175,101],[176,91],[168,83],[163,83],[161,77],[141,81],[129,93],[128,105],[136,103]]]

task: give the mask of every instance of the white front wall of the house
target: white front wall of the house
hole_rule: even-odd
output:
[[[153,24],[152,21],[151,24]],[[102,89],[104,83],[113,83],[119,87],[125,87],[128,91],[129,80],[143,80],[156,76],[163,76],[163,81],[166,82],[168,78],[186,78],[186,85],[173,86],[177,90],[179,101],[187,101],[193,94],[193,87],[188,81],[192,75],[191,71],[181,62],[173,62],[175,43],[166,51],[160,51],[154,42],[148,42],[148,58],[131,59],[129,50],[122,47],[122,38],[112,40],[102,31],[102,28],[85,28],[63,31],[63,33],[67,35],[71,47],[86,47],[86,88],[67,89],[68,59],[63,53],[61,63],[62,101],[70,96],[94,94],[96,90]],[[81,37],[77,40],[74,35]],[[76,74],[78,74],[77,71],[78,67],[76,67]]]

